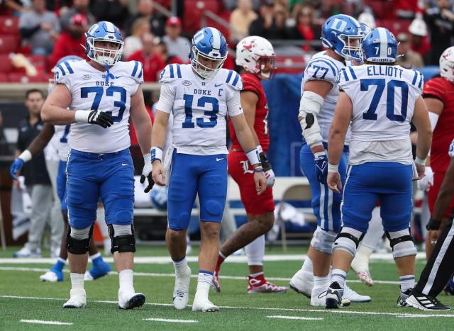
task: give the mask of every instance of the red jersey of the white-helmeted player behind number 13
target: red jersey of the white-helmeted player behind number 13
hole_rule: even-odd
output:
[[[263,151],[266,153],[270,146],[270,135],[268,133],[268,103],[265,91],[263,91],[260,79],[255,75],[249,73],[241,74],[241,79],[243,79],[243,91],[253,91],[258,95],[258,103],[255,108],[254,130],[257,133],[258,141]],[[228,123],[228,128],[230,130],[232,148],[237,151],[243,150],[238,138],[236,138],[235,129],[231,122]]]

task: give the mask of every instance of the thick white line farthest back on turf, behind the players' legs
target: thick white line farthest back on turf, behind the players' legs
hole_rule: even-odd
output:
[[[199,257],[187,257],[187,262],[197,262]],[[267,262],[281,262],[281,261],[301,261],[303,262],[306,259],[306,254],[282,254],[282,255],[270,255],[267,254],[263,258]],[[374,253],[370,256],[372,261],[393,261],[392,253]],[[426,253],[419,252],[416,254],[416,259],[426,259]],[[28,259],[28,258],[1,258],[0,264],[54,264],[54,258],[46,257],[40,259]],[[104,261],[113,263],[113,257],[104,257]],[[226,259],[226,262],[231,263],[245,263],[247,259],[245,256],[233,257],[230,256]],[[134,257],[135,264],[163,264],[163,263],[172,263],[172,259],[169,256],[164,257]]]

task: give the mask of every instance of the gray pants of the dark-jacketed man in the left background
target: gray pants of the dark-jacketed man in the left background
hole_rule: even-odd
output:
[[[26,247],[35,250],[41,247],[45,225],[50,220],[52,186],[35,184],[29,186],[27,189],[31,196],[31,218]],[[60,223],[62,222],[60,221]]]

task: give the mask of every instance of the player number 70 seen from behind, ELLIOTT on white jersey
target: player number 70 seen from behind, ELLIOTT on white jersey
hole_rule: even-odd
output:
[[[326,308],[338,308],[341,303],[347,271],[379,200],[383,228],[400,277],[398,306],[406,305],[414,287],[416,247],[409,232],[414,174],[409,132],[411,121],[418,131],[414,162],[416,176],[421,179],[431,146],[431,123],[421,96],[423,79],[419,72],[395,65],[397,40],[385,28],[375,28],[365,36],[362,52],[365,64],[339,73],[341,93],[328,140],[328,186],[340,193],[338,164],[350,125],[343,228],[333,245]]]

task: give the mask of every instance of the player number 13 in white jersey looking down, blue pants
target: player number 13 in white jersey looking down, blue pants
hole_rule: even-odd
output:
[[[165,162],[167,248],[175,266],[173,304],[184,309],[189,301],[191,269],[186,261],[186,232],[196,194],[200,202],[201,250],[199,278],[192,304],[194,311],[217,311],[208,298],[219,252],[219,229],[227,195],[226,116],[230,116],[243,150],[254,167],[258,194],[266,189],[265,176],[248,123],[240,104],[240,75],[222,69],[227,43],[215,28],[202,28],[192,38],[191,64],[170,64],[160,76],[152,137],[153,179],[166,184],[162,148],[170,113],[172,147]]]

